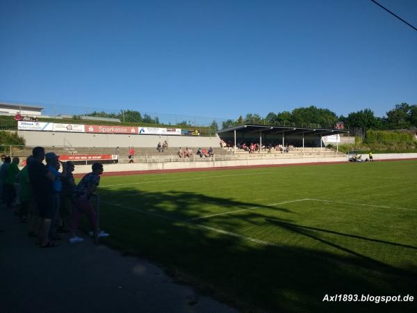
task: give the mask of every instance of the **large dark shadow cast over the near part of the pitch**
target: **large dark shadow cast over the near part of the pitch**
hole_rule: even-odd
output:
[[[231,211],[257,204],[195,192],[162,193],[135,188],[102,190],[101,198],[103,202],[120,202],[126,207],[137,207],[172,218],[158,218],[103,204],[101,225],[111,233],[104,242],[126,254],[160,264],[172,277],[193,284],[202,293],[236,305],[243,312],[414,311],[414,307],[404,303],[395,303],[395,307],[324,303],[325,294],[417,294],[417,268],[415,264],[402,269],[393,268],[335,245],[318,236],[317,232],[327,233],[325,230],[295,226],[291,220],[293,214],[288,209],[273,207],[281,218],[268,222],[284,228],[286,232],[282,236],[297,232],[301,240],[279,244],[278,237],[274,245],[268,245],[181,222],[202,214],[213,214],[213,206]],[[217,222],[222,225],[222,230],[239,230],[245,234],[246,230],[255,230],[256,223],[265,223],[265,218],[268,218],[261,210],[248,210],[237,217],[220,216]],[[263,234],[253,236],[262,238]],[[308,236],[319,244],[306,248],[302,246],[302,236]],[[324,249],[322,244],[329,249]],[[409,247],[400,245],[398,248]],[[341,249],[346,253],[338,252]],[[132,275],[136,275],[133,269]]]

